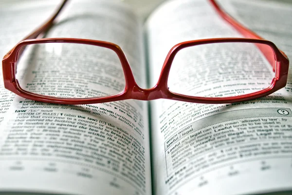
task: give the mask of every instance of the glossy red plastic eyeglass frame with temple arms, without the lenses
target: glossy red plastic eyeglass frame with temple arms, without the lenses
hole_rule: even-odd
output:
[[[227,22],[229,22],[239,33],[241,33],[244,37],[249,38],[219,38],[219,39],[200,39],[200,40],[190,40],[176,44],[172,47],[164,61],[164,65],[161,71],[161,75],[158,79],[157,84],[150,89],[142,89],[140,88],[132,74],[131,68],[129,66],[128,60],[122,51],[122,49],[110,42],[100,41],[100,40],[91,40],[91,39],[72,39],[72,38],[45,38],[45,39],[36,39],[41,33],[47,31],[52,25],[60,13],[64,5],[68,0],[64,0],[63,3],[56,9],[54,15],[46,21],[42,26],[37,28],[33,33],[19,42],[12,50],[10,50],[2,59],[2,70],[3,70],[3,80],[4,86],[6,89],[12,91],[13,93],[21,96],[23,98],[32,99],[36,101],[49,102],[49,103],[59,103],[59,104],[91,104],[91,103],[103,103],[110,101],[118,101],[125,99],[139,99],[139,100],[153,100],[158,98],[165,99],[173,99],[179,101],[186,102],[194,102],[194,103],[232,103],[238,101],[247,101],[255,98],[260,98],[267,96],[269,94],[274,93],[275,91],[286,86],[287,78],[288,78],[288,68],[289,68],[289,59],[284,54],[284,52],[280,51],[273,42],[264,40],[256,33],[250,31],[245,28],[241,24],[239,24],[236,20],[231,18],[228,14],[226,14],[219,5],[215,2],[215,0],[209,0],[213,5],[217,13]],[[250,39],[252,38],[252,39]],[[48,43],[48,42],[66,42],[66,43],[82,43],[82,44],[90,44],[96,46],[102,46],[109,48],[116,52],[119,59],[121,60],[121,64],[124,70],[125,78],[126,78],[126,87],[125,89],[116,95],[104,96],[98,98],[54,98],[49,96],[37,95],[31,92],[27,92],[23,90],[18,80],[15,78],[16,73],[16,62],[17,59],[21,56],[23,50],[20,50],[21,47],[29,44],[36,43]],[[226,98],[204,98],[204,97],[192,97],[185,96],[177,93],[170,92],[167,87],[167,79],[170,71],[171,63],[175,57],[175,55],[181,49],[189,46],[195,46],[200,44],[208,44],[208,43],[220,43],[220,42],[251,42],[251,43],[260,43],[257,45],[258,48],[266,55],[267,59],[270,61],[273,66],[273,70],[275,71],[275,78],[273,79],[270,87],[254,92],[251,94],[240,95],[236,97],[226,97]],[[262,45],[265,44],[265,45]],[[271,48],[274,50],[274,54],[269,53],[267,50]],[[274,64],[276,60],[276,64]],[[273,62],[273,63],[272,63]]]

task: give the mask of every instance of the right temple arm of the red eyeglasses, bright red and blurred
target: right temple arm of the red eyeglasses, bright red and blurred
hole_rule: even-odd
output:
[[[232,18],[229,14],[224,12],[223,9],[220,8],[219,4],[216,2],[216,0],[210,0],[211,4],[215,7],[216,11],[219,13],[219,15],[229,22],[240,34],[242,34],[245,38],[250,39],[263,39],[259,35],[257,35],[252,30],[246,28],[242,24],[240,24],[237,20]],[[274,59],[274,53],[271,52],[271,48],[267,47],[263,44],[257,44],[257,47],[261,50],[261,52],[265,55],[265,57],[268,59],[270,64],[273,67],[273,71],[275,71],[275,59]],[[280,52],[288,59],[287,55],[280,50]]]

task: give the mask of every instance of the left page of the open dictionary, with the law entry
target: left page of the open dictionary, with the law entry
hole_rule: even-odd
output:
[[[1,14],[5,14],[5,17],[1,22],[9,24],[8,20],[13,19],[16,11],[19,15],[23,13],[20,24],[21,21],[28,22],[25,19],[28,8],[32,18],[42,15],[41,10],[37,12],[38,6],[26,3],[20,4],[19,10],[8,5],[4,7],[6,11]],[[55,6],[52,6],[51,13]],[[13,22],[13,25],[19,25]],[[36,26],[41,23],[37,22],[34,23]],[[136,15],[122,3],[72,0],[66,4],[45,37],[96,39],[118,44],[127,55],[137,82],[145,86],[141,29]],[[9,31],[0,33],[5,38]],[[21,34],[20,38],[24,36],[26,33]],[[9,41],[9,46],[12,47],[19,40]],[[2,49],[4,52],[7,48],[1,48],[1,53]],[[88,59],[84,59],[84,51],[80,49],[62,49],[53,45],[36,48],[31,55],[26,52],[29,49],[23,53],[21,59],[32,62],[32,67],[19,69],[17,74],[25,73],[27,79],[31,79],[25,85],[28,90],[37,85],[39,89],[43,87],[44,92],[50,91],[53,90],[47,87],[50,83],[50,87],[55,87],[55,91],[50,93],[63,93],[63,86],[78,92],[78,95],[107,93],[88,88],[86,78],[93,77],[92,71],[97,66],[102,67],[100,72],[104,80],[94,81],[92,78],[92,82],[103,83],[109,93],[123,86],[123,73],[118,72],[112,64],[114,59],[100,55],[94,49],[85,51],[90,57]],[[58,55],[61,51],[64,55],[70,52],[75,54],[64,61],[71,65],[67,73],[74,78],[74,84],[63,77],[61,68],[52,70],[53,63],[44,64],[47,56],[54,52]],[[79,59],[84,64],[78,64]],[[44,66],[35,70],[35,62],[41,62]],[[87,70],[84,65],[87,65]],[[47,76],[52,71],[54,74]],[[84,74],[78,77],[74,75],[80,72]],[[0,192],[82,195],[151,193],[146,102],[127,100],[60,105],[15,97],[3,88],[1,93],[9,94],[6,99],[10,106],[6,107],[5,98],[0,102],[0,107],[7,108],[0,123]]]

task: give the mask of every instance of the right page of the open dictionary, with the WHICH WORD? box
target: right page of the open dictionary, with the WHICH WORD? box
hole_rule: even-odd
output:
[[[256,10],[261,13],[259,8]],[[274,13],[273,17],[288,19],[289,14],[283,16],[284,13]],[[164,3],[148,19],[146,32],[152,86],[158,80],[167,52],[175,44],[193,39],[242,37],[205,0],[171,0]],[[291,39],[285,42],[292,45]],[[277,46],[284,50],[281,42]],[[201,55],[195,54],[194,57],[209,57],[204,51],[198,51],[198,54]],[[255,54],[260,55],[258,52]],[[212,60],[214,55],[210,58]],[[186,58],[185,62],[191,60]],[[226,56],[225,60],[237,59]],[[181,62],[183,64],[183,59]],[[202,82],[213,79],[211,76],[204,77],[205,72],[210,75],[216,71],[212,70],[212,65],[209,63],[197,70]],[[257,67],[255,71],[258,73],[264,70]],[[176,72],[177,81],[195,79],[188,77],[188,67],[182,68],[186,71],[184,75]],[[231,73],[230,78],[233,75]],[[233,82],[238,86],[244,84],[244,81]],[[215,80],[211,92],[206,89],[200,95],[220,95],[224,90],[230,90],[231,86]],[[251,85],[244,84],[237,90],[249,87]],[[228,104],[196,104],[164,99],[152,101],[152,178],[155,194],[235,195],[291,190],[291,97],[289,88],[284,88],[268,97]]]

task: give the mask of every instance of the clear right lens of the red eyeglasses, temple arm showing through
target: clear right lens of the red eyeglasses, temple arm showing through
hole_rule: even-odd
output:
[[[264,51],[263,51],[264,48]],[[272,55],[272,56],[271,56]],[[268,88],[275,76],[269,45],[249,42],[202,44],[180,50],[171,65],[168,87],[178,94],[224,98]]]

